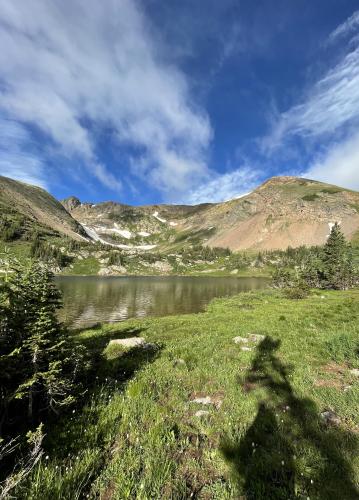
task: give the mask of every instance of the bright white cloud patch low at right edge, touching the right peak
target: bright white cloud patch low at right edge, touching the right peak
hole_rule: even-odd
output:
[[[334,144],[303,176],[359,190],[359,133]]]

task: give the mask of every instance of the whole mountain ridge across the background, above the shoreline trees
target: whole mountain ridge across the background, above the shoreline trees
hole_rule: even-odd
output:
[[[273,177],[224,203],[129,206],[81,203],[75,196],[60,203],[44,189],[0,176],[0,216],[0,239],[1,230],[15,227],[27,240],[41,230],[157,253],[175,254],[196,244],[270,250],[323,244],[335,222],[348,239],[357,239],[359,193],[310,179]]]

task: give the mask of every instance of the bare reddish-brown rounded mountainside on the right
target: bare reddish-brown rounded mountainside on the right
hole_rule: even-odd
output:
[[[334,222],[340,222],[349,239],[359,230],[359,193],[308,179],[274,177],[243,198],[209,208],[204,216],[218,228],[208,240],[211,246],[321,245]]]

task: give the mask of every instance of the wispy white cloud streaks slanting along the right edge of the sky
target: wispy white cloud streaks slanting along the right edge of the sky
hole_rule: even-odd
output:
[[[299,141],[314,158],[301,174],[353,189],[359,187],[359,33],[356,31],[359,31],[359,11],[328,38],[334,43],[351,35],[339,62],[307,89],[301,102],[278,113],[270,134],[260,140],[265,156],[272,159],[277,154],[292,154]]]

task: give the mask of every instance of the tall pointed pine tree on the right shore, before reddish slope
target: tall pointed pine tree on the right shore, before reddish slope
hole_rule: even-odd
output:
[[[345,241],[339,224],[335,223],[323,249],[323,285],[345,290],[353,286],[354,275],[350,244]]]

